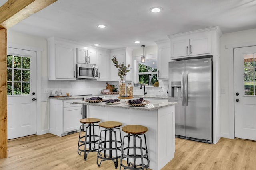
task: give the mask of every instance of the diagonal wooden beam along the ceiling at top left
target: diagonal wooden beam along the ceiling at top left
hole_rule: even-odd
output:
[[[8,0],[0,7],[0,28],[8,29],[57,0]]]

